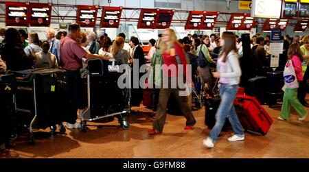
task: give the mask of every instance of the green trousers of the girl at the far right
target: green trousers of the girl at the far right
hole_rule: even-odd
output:
[[[304,108],[304,106],[297,98],[297,88],[286,88],[286,90],[284,91],[284,99],[280,114],[283,119],[290,119],[291,106],[293,106],[293,108],[296,110],[297,114],[299,114],[300,117],[303,117],[308,113],[306,108]]]

